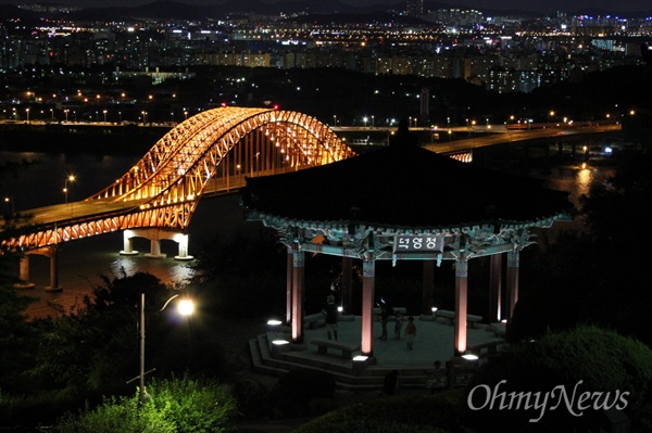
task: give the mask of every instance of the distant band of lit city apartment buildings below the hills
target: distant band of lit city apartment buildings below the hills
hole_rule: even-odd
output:
[[[406,7],[411,14],[423,13],[423,1],[411,0]],[[165,73],[179,67],[334,67],[456,78],[492,91],[527,92],[567,79],[572,69],[587,73],[642,62],[636,35],[649,35],[652,27],[645,20],[562,14],[530,29],[521,22],[512,27],[516,18],[488,18],[463,9],[438,10],[428,20],[437,22],[432,29],[377,23],[261,25],[243,20],[204,26],[101,24],[75,30],[60,26],[12,34],[0,25],[0,68],[115,64],[122,76],[159,68],[158,74],[146,74],[155,84],[179,78]]]

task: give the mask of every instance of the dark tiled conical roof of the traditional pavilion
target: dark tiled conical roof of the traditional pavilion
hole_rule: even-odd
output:
[[[315,222],[446,228],[528,224],[567,214],[567,193],[540,181],[397,140],[337,163],[248,178],[249,211]]]

